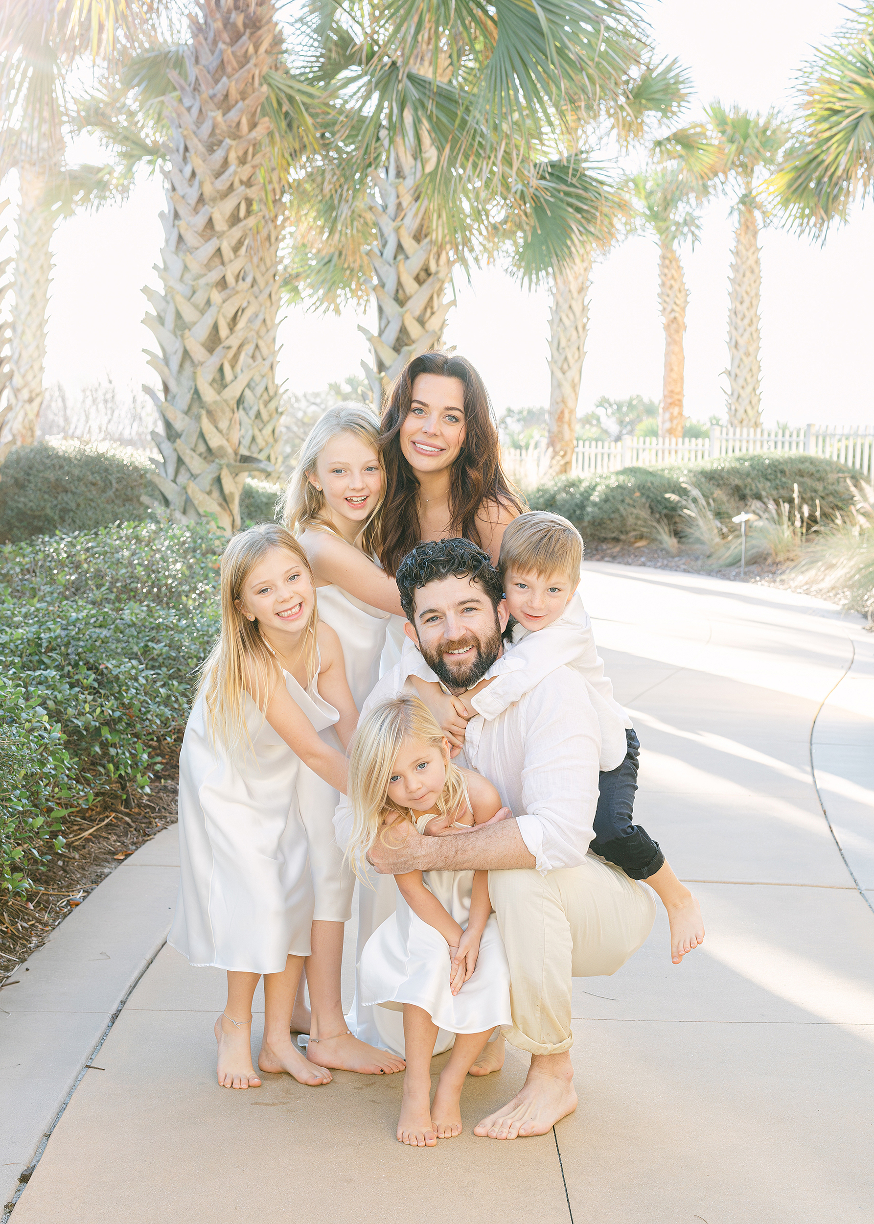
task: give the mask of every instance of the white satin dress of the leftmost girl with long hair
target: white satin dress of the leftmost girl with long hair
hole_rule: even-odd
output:
[[[283,676],[316,731],[337,722],[318,694],[318,671],[306,689]],[[289,955],[310,955],[313,887],[301,812],[311,797],[306,766],[248,694],[244,701],[252,747],[236,758],[209,736],[202,698],[189,716],[179,760],[181,878],[168,942],[196,966],[282,973]],[[319,813],[333,836],[332,815],[333,805]]]

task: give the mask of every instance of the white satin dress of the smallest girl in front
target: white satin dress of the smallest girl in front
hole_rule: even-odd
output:
[[[430,820],[433,814],[419,816],[416,830],[424,834]],[[466,929],[474,873],[424,871],[422,880]],[[398,892],[395,912],[367,940],[359,968],[361,1002],[376,1012],[379,1044],[404,1056],[405,1002],[424,1007],[439,1028],[435,1054],[448,1050],[455,1033],[485,1033],[512,1023],[509,965],[495,914],[482,933],[476,968],[457,995],[449,989],[449,966],[446,939]]]

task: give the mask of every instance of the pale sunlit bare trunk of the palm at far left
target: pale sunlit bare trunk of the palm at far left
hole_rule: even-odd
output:
[[[45,315],[51,279],[51,235],[56,218],[42,207],[45,184],[60,157],[44,162],[22,159],[18,166],[21,204],[12,291],[9,416],[15,446],[37,441],[45,372]]]

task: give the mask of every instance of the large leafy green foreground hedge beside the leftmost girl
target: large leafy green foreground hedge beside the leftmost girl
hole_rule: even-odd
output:
[[[109,788],[147,791],[181,742],[219,627],[224,539],[155,521],[0,547],[0,871]]]

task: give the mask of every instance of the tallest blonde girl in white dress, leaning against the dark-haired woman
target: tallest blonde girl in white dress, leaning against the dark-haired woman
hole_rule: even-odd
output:
[[[359,709],[379,679],[381,660],[390,649],[393,629],[403,627],[405,619],[394,579],[373,561],[383,494],[378,437],[378,421],[364,404],[329,408],[301,447],[283,498],[283,521],[306,551],[316,579],[318,616],[340,639],[346,679]],[[400,634],[403,638],[403,628]],[[323,738],[332,734],[328,731]],[[326,791],[316,775],[310,774],[310,781],[315,796]],[[334,796],[334,803],[338,798]],[[318,810],[323,802],[317,800]],[[324,830],[319,824],[313,829],[306,816],[305,823],[316,891],[313,960],[306,966],[312,1007],[307,1058],[319,1066],[366,1075],[402,1070],[400,1059],[359,1040],[346,1027],[340,1002],[340,965],[343,927],[351,917],[355,879],[343,859],[333,826]],[[376,876],[375,880],[378,883],[373,887],[360,894],[364,931],[378,925],[394,908],[392,880]],[[302,988],[294,1022],[307,1024]]]

